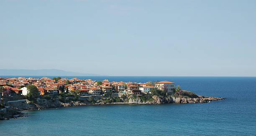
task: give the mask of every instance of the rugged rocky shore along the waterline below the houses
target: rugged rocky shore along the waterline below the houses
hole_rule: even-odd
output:
[[[129,98],[126,102],[119,103],[107,103],[105,101],[98,101],[96,103],[90,103],[88,101],[70,101],[68,103],[62,103],[60,101],[47,101],[46,103],[35,104],[28,100],[13,101],[8,103],[6,108],[0,110],[0,120],[8,120],[9,118],[17,118],[26,116],[20,112],[23,110],[41,110],[43,108],[59,108],[59,107],[72,107],[72,106],[86,106],[86,105],[107,105],[107,104],[162,104],[162,103],[208,103],[209,101],[224,100],[225,98],[200,96],[197,98],[184,98],[184,97],[161,97],[153,96],[154,101],[142,101],[141,98]]]

